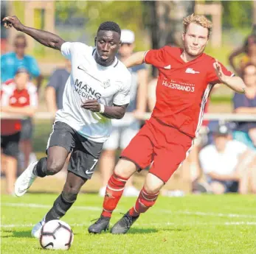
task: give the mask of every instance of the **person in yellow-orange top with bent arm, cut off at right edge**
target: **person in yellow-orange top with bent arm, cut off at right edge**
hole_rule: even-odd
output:
[[[239,65],[235,64],[235,58],[243,54]],[[256,24],[253,25],[252,34],[249,35],[238,49],[235,49],[229,56],[229,64],[235,72],[242,76],[243,68],[247,63],[253,63],[256,66]]]

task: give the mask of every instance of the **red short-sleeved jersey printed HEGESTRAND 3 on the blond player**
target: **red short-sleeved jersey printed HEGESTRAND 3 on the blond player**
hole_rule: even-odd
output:
[[[145,54],[145,63],[159,70],[152,116],[194,138],[212,86],[220,81],[213,67],[213,57],[201,54],[185,63],[181,59],[182,52],[183,49],[164,46]],[[232,76],[222,64],[221,68],[225,75]]]

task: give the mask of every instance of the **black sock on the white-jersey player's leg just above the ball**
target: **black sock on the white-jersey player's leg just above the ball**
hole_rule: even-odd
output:
[[[46,214],[45,222],[49,222],[52,219],[60,219],[62,216],[66,214],[66,211],[72,207],[75,200],[69,202],[64,200],[63,194],[61,193],[60,196],[55,200],[51,210]]]

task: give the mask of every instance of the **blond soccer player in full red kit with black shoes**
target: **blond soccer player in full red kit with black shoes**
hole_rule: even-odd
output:
[[[134,172],[151,165],[145,184],[133,208],[111,229],[126,233],[131,225],[154,205],[159,191],[186,158],[203,119],[204,106],[216,83],[223,83],[237,93],[245,93],[240,77],[226,70],[213,57],[204,54],[211,22],[203,15],[184,18],[184,49],[164,46],[133,54],[125,65],[148,63],[159,71],[156,105],[151,119],[121,154],[108,180],[100,219],[89,227],[90,233],[106,230],[125,183]]]

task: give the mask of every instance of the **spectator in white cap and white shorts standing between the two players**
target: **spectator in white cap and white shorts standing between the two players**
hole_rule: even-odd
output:
[[[123,61],[134,51],[134,32],[131,30],[122,30],[122,45],[119,50],[120,60]],[[130,68],[132,74],[131,82],[131,101],[127,107],[127,114],[120,120],[112,120],[113,130],[108,141],[103,146],[103,152],[100,158],[100,172],[103,177],[103,187],[100,188],[100,196],[105,195],[105,188],[108,179],[115,165],[116,150],[124,149],[128,146],[131,139],[139,131],[140,121],[136,118],[143,116],[147,105],[147,85],[148,71],[145,64]],[[137,94],[137,95],[136,95]],[[131,180],[128,181],[124,191],[125,196],[138,196],[139,191],[132,185]]]

